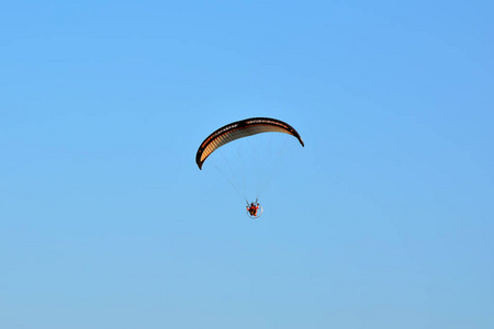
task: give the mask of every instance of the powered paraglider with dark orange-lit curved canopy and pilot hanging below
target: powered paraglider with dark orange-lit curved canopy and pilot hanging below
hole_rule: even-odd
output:
[[[195,163],[202,170],[204,161],[218,148],[229,144],[236,139],[261,133],[283,133],[295,137],[300,145],[304,146],[304,141],[299,133],[285,122],[270,117],[251,117],[234,123],[229,123],[207,136],[199,146],[195,155]],[[257,195],[258,196],[258,195]],[[249,203],[247,200],[247,215],[251,218],[258,218],[262,214],[262,206],[256,202]]]

